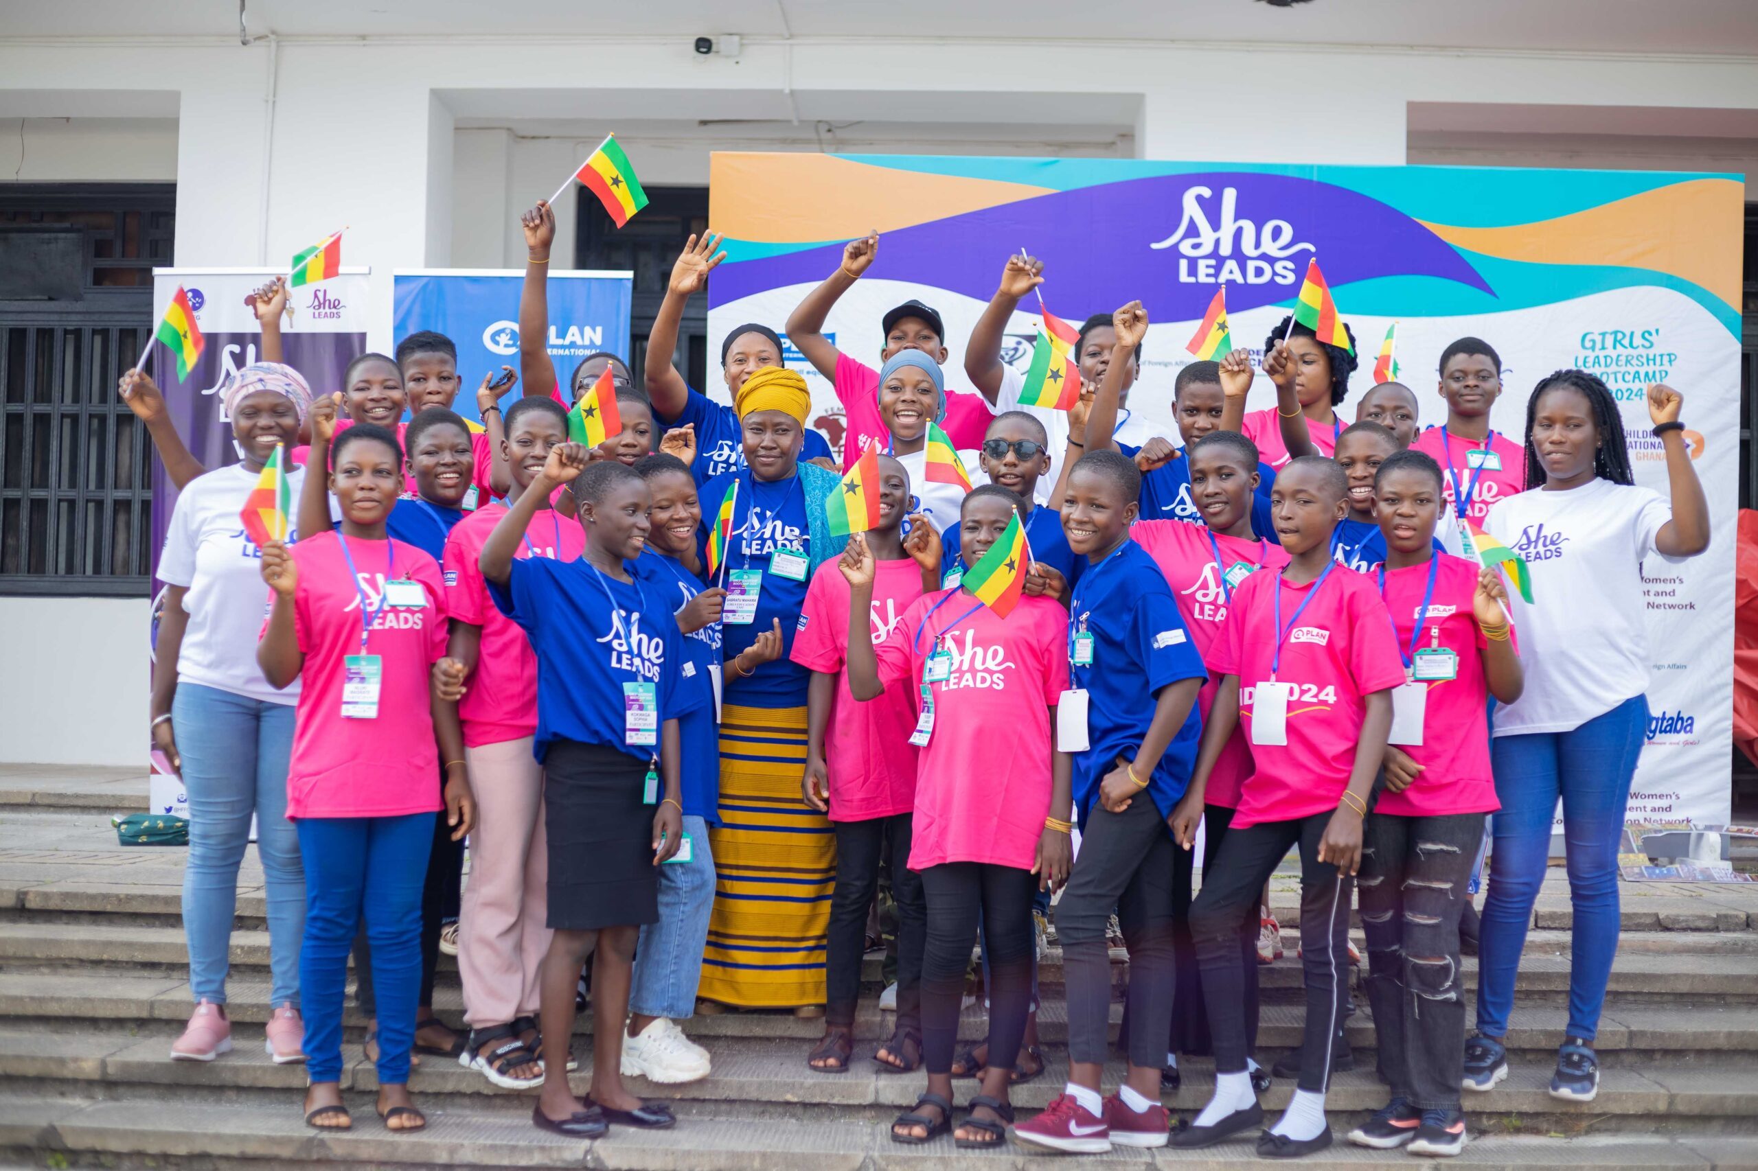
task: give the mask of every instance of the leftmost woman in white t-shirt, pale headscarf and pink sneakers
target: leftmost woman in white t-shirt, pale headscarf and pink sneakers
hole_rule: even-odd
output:
[[[128,371],[123,397],[156,397],[151,380]],[[301,1048],[299,939],[306,877],[299,837],[287,819],[287,761],[294,747],[297,684],[274,689],[257,666],[257,635],[267,612],[262,550],[241,512],[257,476],[299,441],[311,387],[290,366],[257,362],[223,390],[225,417],[243,459],[195,476],[178,494],[158,559],[165,582],[153,666],[153,746],[183,777],[190,800],[190,856],[183,870],[183,934],[190,949],[195,1013],[171,1046],[172,1060],[207,1062],[232,1048],[225,1013],[227,951],[237,904],[237,865],[257,818],[269,904],[269,1025],[264,1048],[276,1064],[306,1060]],[[304,469],[288,473],[299,498]],[[288,508],[288,526],[294,515]],[[288,533],[288,540],[294,535]]]

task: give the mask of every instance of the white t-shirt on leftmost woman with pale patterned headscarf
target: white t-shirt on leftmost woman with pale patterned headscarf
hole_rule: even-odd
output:
[[[295,501],[304,480],[304,468],[287,476]],[[239,520],[253,487],[257,473],[243,464],[216,468],[190,480],[171,512],[158,580],[188,589],[183,608],[190,621],[178,654],[178,680],[269,703],[295,703],[297,682],[276,691],[257,666],[257,635],[267,615],[269,587],[262,584],[262,550],[244,536]]]

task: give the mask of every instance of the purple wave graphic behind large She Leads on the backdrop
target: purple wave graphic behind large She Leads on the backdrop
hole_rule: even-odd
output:
[[[1046,264],[1051,309],[1076,322],[1134,297],[1153,320],[1201,318],[1220,283],[1232,313],[1287,301],[1313,255],[1333,288],[1436,276],[1494,292],[1452,244],[1389,204],[1333,183],[1225,171],[1055,192],[897,229],[868,274],[986,301],[1021,244]],[[724,264],[708,301],[816,283],[840,255],[842,244],[826,244]]]

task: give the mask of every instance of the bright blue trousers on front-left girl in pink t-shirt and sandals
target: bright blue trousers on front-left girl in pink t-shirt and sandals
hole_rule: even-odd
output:
[[[403,1085],[422,990],[422,888],[434,816],[301,818],[297,825],[306,856],[306,942],[299,955],[306,1071],[311,1081],[341,1080],[348,948],[364,916],[378,993],[378,1081]]]

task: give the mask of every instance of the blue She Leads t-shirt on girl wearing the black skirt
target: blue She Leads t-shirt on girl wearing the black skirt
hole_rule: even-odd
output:
[[[672,594],[661,596],[640,578],[619,582],[584,557],[520,557],[506,586],[489,582],[489,596],[519,622],[538,656],[538,761],[556,740],[652,760],[665,721],[682,719],[700,702],[679,687],[684,638],[672,619]],[[659,735],[652,747],[624,742],[624,684],[633,682],[654,686]]]

